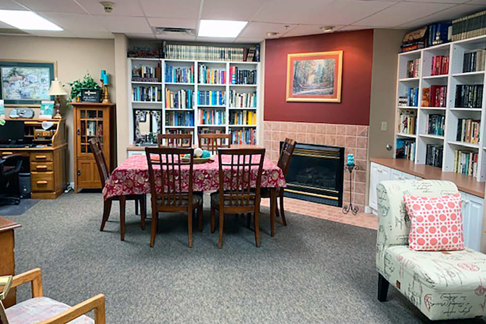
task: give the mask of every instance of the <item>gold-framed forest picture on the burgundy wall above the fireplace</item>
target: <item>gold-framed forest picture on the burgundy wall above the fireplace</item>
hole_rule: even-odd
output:
[[[343,51],[287,55],[288,102],[341,102]]]

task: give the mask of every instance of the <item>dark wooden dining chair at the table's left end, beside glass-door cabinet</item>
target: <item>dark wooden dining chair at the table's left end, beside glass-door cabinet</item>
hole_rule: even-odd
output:
[[[106,180],[108,180],[110,173],[108,171],[108,167],[106,166],[106,159],[104,157],[102,144],[98,137],[91,137],[89,139],[89,145],[96,160],[96,165],[98,166],[102,188],[104,188],[104,184],[106,183]],[[145,229],[145,215],[147,211],[146,195],[122,195],[104,200],[103,219],[101,222],[100,231],[104,230],[104,225],[110,217],[111,203],[114,200],[118,200],[120,202],[120,237],[122,241],[125,239],[125,203],[127,200],[133,200],[135,201],[135,204],[137,204],[137,202],[140,203],[140,227],[142,230]]]

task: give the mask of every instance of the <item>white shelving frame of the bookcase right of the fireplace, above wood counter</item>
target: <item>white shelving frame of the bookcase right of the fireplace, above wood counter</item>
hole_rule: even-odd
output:
[[[454,150],[472,150],[478,153],[477,181],[486,180],[486,77],[485,67],[476,72],[463,73],[464,53],[472,50],[486,48],[486,35],[440,44],[421,50],[409,51],[398,55],[398,80],[396,101],[396,122],[394,152],[397,149],[397,138],[407,138],[415,141],[416,164],[425,164],[427,144],[443,144],[442,171],[451,172],[454,167]],[[432,58],[434,55],[449,56],[449,73],[431,75]],[[416,78],[407,78],[407,62],[419,59],[419,75]],[[455,107],[456,85],[483,85],[483,100],[481,107],[459,108]],[[445,107],[422,107],[422,88],[431,85],[447,85]],[[399,97],[407,95],[407,89],[418,87],[418,106],[399,106]],[[400,111],[415,110],[417,112],[417,125],[415,134],[399,133]],[[445,116],[444,136],[427,134],[429,114]],[[456,141],[458,119],[480,119],[480,140],[478,144]]]

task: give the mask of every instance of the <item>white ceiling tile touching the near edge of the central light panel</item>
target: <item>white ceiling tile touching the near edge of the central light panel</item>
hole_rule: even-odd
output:
[[[249,21],[261,7],[263,0],[204,0],[201,19]]]

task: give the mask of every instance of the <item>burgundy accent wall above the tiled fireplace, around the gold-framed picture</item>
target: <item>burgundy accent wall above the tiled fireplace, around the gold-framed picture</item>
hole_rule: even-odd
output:
[[[343,51],[341,102],[286,102],[287,54]],[[373,30],[265,41],[264,120],[369,125]]]

